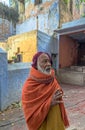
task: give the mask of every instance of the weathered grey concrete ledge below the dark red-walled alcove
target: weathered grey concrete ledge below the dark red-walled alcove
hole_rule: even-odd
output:
[[[58,71],[58,77],[62,83],[68,83],[73,85],[85,84],[85,73],[72,70],[60,69]]]

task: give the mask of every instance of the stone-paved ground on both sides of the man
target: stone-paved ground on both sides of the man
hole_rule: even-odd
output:
[[[85,86],[61,84],[70,121],[66,130],[85,130]],[[20,107],[0,112],[0,130],[27,130]]]

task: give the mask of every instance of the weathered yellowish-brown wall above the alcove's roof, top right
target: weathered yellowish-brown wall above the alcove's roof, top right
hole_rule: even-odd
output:
[[[60,1],[60,23],[85,17],[85,2],[80,0],[68,0],[67,5],[63,0]]]

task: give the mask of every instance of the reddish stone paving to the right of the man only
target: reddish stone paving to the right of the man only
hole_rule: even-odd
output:
[[[85,130],[85,86],[62,85],[72,130]]]

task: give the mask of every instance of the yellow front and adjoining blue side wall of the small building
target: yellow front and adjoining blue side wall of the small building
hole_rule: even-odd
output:
[[[31,31],[10,37],[8,39],[8,59],[16,56],[17,49],[20,48],[19,54],[22,54],[22,62],[31,62],[33,55],[37,51],[48,52],[49,54],[57,53],[57,40],[41,32]]]

